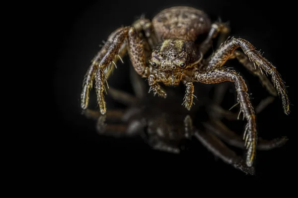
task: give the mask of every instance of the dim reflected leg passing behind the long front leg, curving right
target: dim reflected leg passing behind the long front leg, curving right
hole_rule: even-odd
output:
[[[222,121],[214,120],[210,123],[203,124],[208,129],[208,131],[214,133],[225,143],[237,148],[245,149],[244,140],[242,139],[242,137],[228,129]],[[287,137],[276,138],[273,140],[262,140],[261,138],[258,138],[257,149],[270,150],[273,148],[282,147],[284,144],[286,144],[287,141]]]

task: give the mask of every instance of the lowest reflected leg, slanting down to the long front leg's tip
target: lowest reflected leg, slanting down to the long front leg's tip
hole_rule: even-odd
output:
[[[246,174],[254,174],[254,167],[247,167],[243,159],[234,151],[227,148],[219,138],[213,135],[213,133],[195,130],[194,136],[203,146],[205,146],[215,156],[221,158],[225,163],[231,164],[233,167]]]

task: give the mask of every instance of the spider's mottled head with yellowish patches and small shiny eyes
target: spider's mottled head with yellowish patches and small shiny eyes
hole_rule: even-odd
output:
[[[167,39],[154,49],[150,64],[161,73],[181,73],[202,59],[194,42],[180,39]]]

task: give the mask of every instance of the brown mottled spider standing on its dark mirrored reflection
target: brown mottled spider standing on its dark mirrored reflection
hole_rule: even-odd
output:
[[[243,137],[247,148],[246,164],[252,166],[257,148],[254,108],[245,81],[236,71],[223,67],[225,62],[236,58],[257,75],[272,95],[281,97],[286,114],[290,113],[290,102],[285,84],[275,66],[248,41],[242,38],[224,39],[219,49],[204,58],[213,39],[218,36],[225,38],[228,33],[226,24],[220,21],[211,23],[205,12],[188,6],[170,7],[157,13],[152,21],[141,17],[132,26],[118,28],[110,34],[103,48],[91,61],[83,81],[81,108],[87,108],[89,92],[95,82],[100,113],[106,113],[104,92],[107,78],[126,52],[135,71],[148,79],[149,92],[152,91],[154,95],[162,98],[167,96],[159,82],[166,86],[178,86],[182,82],[186,88],[182,104],[188,110],[193,105],[194,82],[232,82],[240,112],[247,121]],[[198,44],[198,37],[204,34],[207,35],[205,40]],[[274,86],[264,73],[272,76]]]

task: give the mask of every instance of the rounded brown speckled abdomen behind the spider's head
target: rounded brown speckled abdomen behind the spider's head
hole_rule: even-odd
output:
[[[176,6],[159,12],[152,24],[160,42],[165,39],[195,41],[200,34],[209,31],[211,21],[202,10]]]

